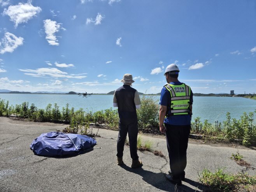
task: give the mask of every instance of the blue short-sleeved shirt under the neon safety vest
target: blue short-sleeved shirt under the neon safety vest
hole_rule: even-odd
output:
[[[179,86],[179,85],[182,85],[182,82],[176,81],[176,82],[170,82],[170,84]],[[190,102],[193,103],[192,90],[190,90]],[[171,94],[166,89],[166,87],[163,87],[161,91],[161,98],[160,98],[159,104],[167,106],[167,111],[168,110],[170,111]],[[172,115],[172,116],[166,117],[164,122],[170,125],[190,125],[191,116],[190,115]]]

